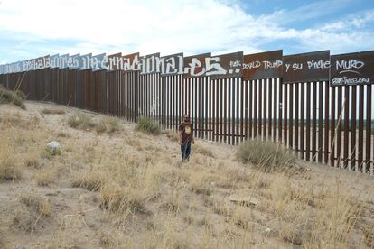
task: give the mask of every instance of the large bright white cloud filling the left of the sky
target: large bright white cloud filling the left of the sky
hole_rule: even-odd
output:
[[[237,6],[213,0],[4,1],[0,30],[22,33],[24,40],[81,41],[70,48],[79,51],[220,51],[235,42],[233,27],[251,21]]]

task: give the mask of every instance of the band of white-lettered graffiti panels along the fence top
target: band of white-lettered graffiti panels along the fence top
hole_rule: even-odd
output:
[[[139,71],[162,77],[243,78],[255,80],[282,78],[284,83],[329,80],[332,86],[373,84],[374,51],[330,56],[330,51],[283,55],[283,51],[266,51],[244,55],[242,51],[212,55],[203,53],[185,57],[183,53],[160,56],[159,52],[141,56],[138,52],[122,55],[55,54],[32,60],[0,65],[0,74],[38,69],[92,69]]]

